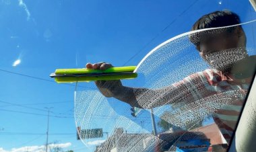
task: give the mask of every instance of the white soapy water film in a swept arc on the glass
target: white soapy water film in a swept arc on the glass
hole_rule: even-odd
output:
[[[246,28],[250,24],[255,24],[255,22],[244,24],[243,26]],[[241,96],[241,92],[238,89],[234,89],[232,91],[220,91],[220,93],[206,98],[201,98],[199,94],[195,93],[197,100],[190,100],[186,96],[187,92],[200,88],[200,83],[196,81],[193,83],[194,85],[187,86],[183,91],[176,94],[177,98],[180,99],[179,102],[172,100],[171,97],[168,99],[163,98],[163,96],[168,96],[171,91],[168,86],[172,85],[172,83],[181,81],[193,73],[210,68],[201,59],[198,51],[195,50],[195,46],[189,41],[191,34],[197,35],[205,31],[181,34],[160,44],[150,51],[141,63],[137,65],[135,72],[139,76],[136,79],[122,81],[123,85],[129,87],[162,89],[161,93],[156,94],[143,92],[136,99],[140,106],[145,108],[139,112],[136,118],[131,116],[131,106],[114,98],[106,98],[97,89],[75,90],[76,126],[81,127],[81,129],[102,128],[103,132],[107,132],[104,134],[104,138],[81,139],[81,141],[92,149],[94,147],[90,143],[93,141],[108,143],[109,145],[105,146],[102,151],[113,149],[113,145],[118,147],[119,151],[150,151],[154,149],[156,143],[163,142],[152,135],[150,108],[154,107],[156,123],[161,118],[174,126],[190,130],[197,122],[210,118],[216,110],[225,108],[237,98],[245,98]],[[225,31],[224,28],[207,30],[208,33],[211,32],[212,34],[223,31]],[[220,63],[218,64],[219,67],[215,68],[222,69],[224,65],[241,60],[241,56],[243,56],[241,49],[243,48],[214,52],[207,56],[206,60],[210,64],[214,62]],[[247,51],[249,54],[255,54],[253,46],[249,46]],[[232,56],[232,61],[228,59],[230,56]],[[204,80],[199,79],[198,81]],[[104,85],[108,85],[108,83]],[[165,102],[164,106],[158,106],[160,102]],[[157,130],[160,130],[159,126],[157,126]],[[129,134],[133,134],[133,137],[127,137]],[[106,141],[107,137],[108,141]],[[182,135],[174,139],[179,140],[181,138]]]

